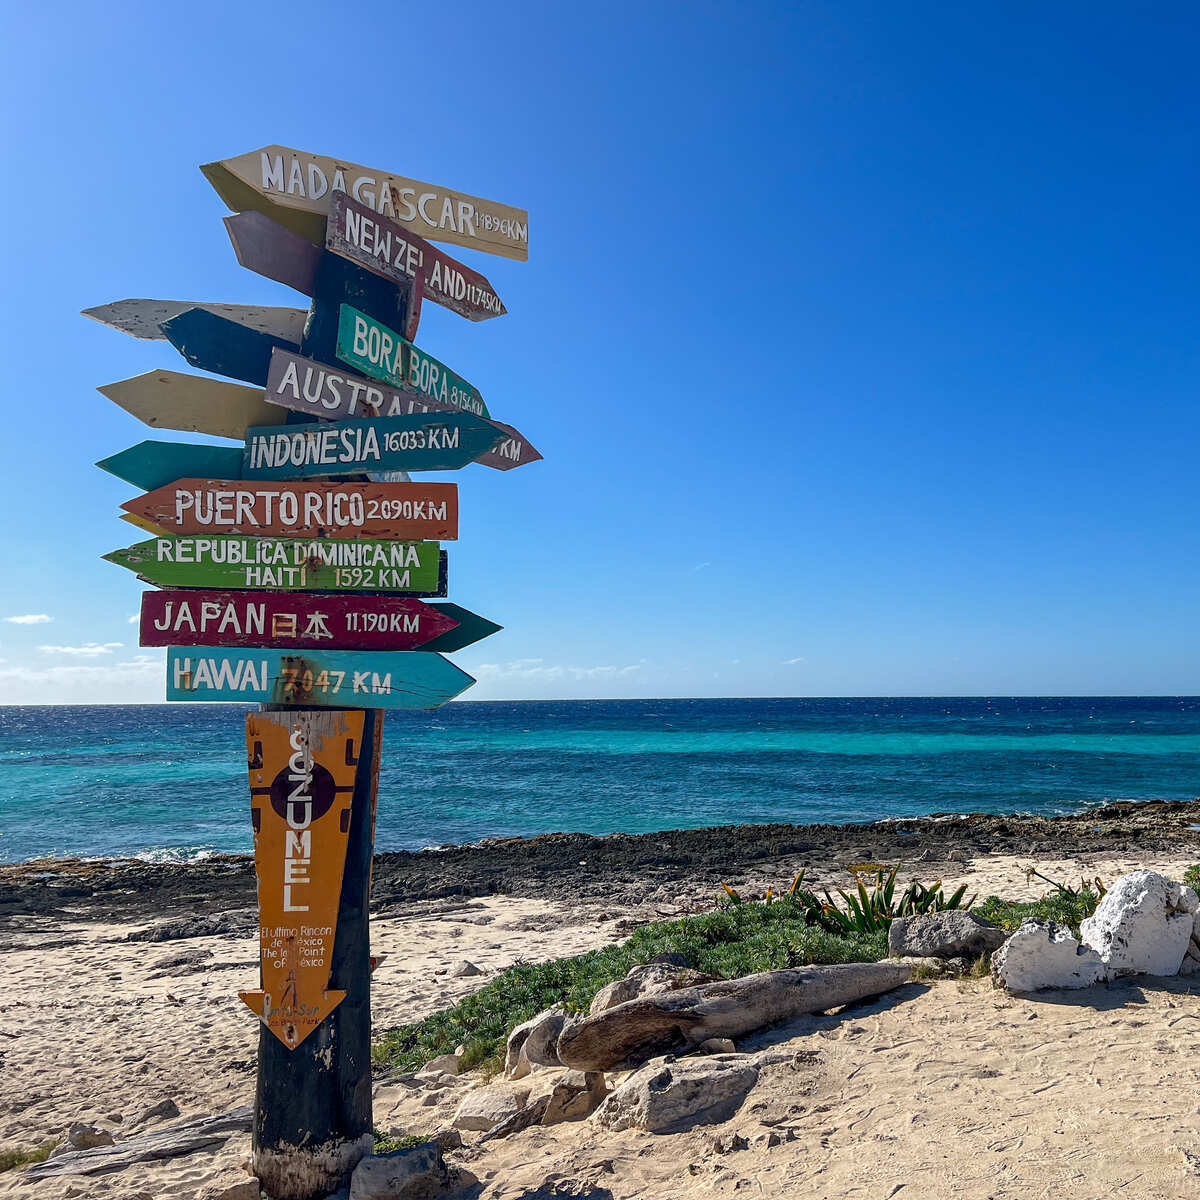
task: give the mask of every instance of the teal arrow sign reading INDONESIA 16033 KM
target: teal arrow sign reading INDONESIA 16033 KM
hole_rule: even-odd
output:
[[[502,432],[472,413],[418,413],[248,430],[244,479],[305,479],[362,470],[457,470]]]

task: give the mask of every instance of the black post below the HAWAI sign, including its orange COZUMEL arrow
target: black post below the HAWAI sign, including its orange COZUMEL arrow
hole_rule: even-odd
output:
[[[340,739],[335,739],[336,745],[329,745],[328,732],[335,727],[341,731]],[[258,766],[259,751],[263,756],[268,755],[263,748],[264,732],[268,736],[275,733],[278,757],[266,757]],[[371,950],[367,908],[382,733],[383,713],[378,709],[354,713],[292,708],[246,719],[251,803],[256,815],[264,991],[269,964],[287,964],[286,971],[272,972],[276,978],[274,985],[278,990],[271,997],[270,1008],[264,1008],[262,1001],[252,994],[244,997],[247,1002],[258,1000],[257,1010],[263,1020],[258,1037],[258,1082],[254,1096],[254,1174],[263,1188],[278,1200],[308,1200],[335,1190],[355,1163],[370,1153],[372,1146]],[[304,743],[306,748],[299,758],[301,767],[311,761],[311,769],[289,769],[289,766],[295,764],[296,752],[293,748],[296,743]],[[324,767],[323,760],[330,758],[330,767]],[[329,793],[332,791],[334,796],[337,794],[337,779],[331,769],[334,767],[350,768],[350,794],[344,797],[341,805],[335,799],[330,809],[318,815]],[[290,839],[293,845],[300,842],[296,848],[311,851],[308,862],[312,866],[301,875],[308,875],[313,883],[290,884],[290,890],[283,893],[282,889],[289,888],[283,882],[289,877],[289,859],[286,853],[278,856],[278,841],[264,835],[265,823],[262,816],[264,804],[275,803],[281,793],[294,794],[296,782],[302,786],[306,779],[312,779],[318,773],[317,768],[329,772],[334,788],[329,787],[328,781],[324,792],[314,786],[311,815],[301,810],[295,816],[298,823],[307,817],[317,827],[323,821],[346,824],[344,871],[332,902],[326,901],[326,910],[332,910],[331,912],[322,911],[319,901],[307,902],[310,899],[318,900],[316,895],[307,894],[316,893],[316,856],[322,848],[316,832],[313,830],[307,845],[302,841],[304,830],[294,832]],[[282,785],[277,785],[274,781],[281,774],[287,778]],[[305,779],[293,782],[290,776],[296,774]],[[262,784],[256,787],[256,778],[271,778],[272,782],[265,785],[266,794],[262,792]],[[304,792],[300,794],[306,796]],[[290,803],[294,812],[296,802]],[[301,809],[304,803],[301,799]],[[287,810],[287,803],[284,808]],[[274,815],[277,821],[277,814]],[[287,817],[284,823],[286,821]],[[288,840],[284,832],[284,851]],[[341,848],[331,835],[329,853],[335,863]],[[280,913],[272,908],[276,899],[270,894],[272,888],[281,890],[280,898],[290,902],[287,907],[292,912]],[[282,907],[286,906],[281,904]],[[289,924],[271,924],[269,914],[282,917]],[[306,932],[330,929],[330,919],[332,936]],[[281,930],[286,931],[282,938],[277,936]],[[280,941],[284,944],[278,946]],[[320,990],[299,990],[298,977],[306,972],[306,959],[316,961],[311,953],[314,942],[322,949],[328,946],[331,950],[324,967],[307,968],[317,977],[314,983]],[[324,982],[319,978],[323,972],[328,972]],[[298,1024],[296,1007],[305,1009],[299,1019],[305,1024]]]

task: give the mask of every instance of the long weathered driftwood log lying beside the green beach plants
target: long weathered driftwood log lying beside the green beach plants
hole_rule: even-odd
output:
[[[708,1038],[739,1038],[802,1013],[853,1004],[899,988],[911,974],[896,964],[848,962],[764,971],[644,996],[568,1022],[558,1036],[558,1057],[575,1070],[611,1070]]]

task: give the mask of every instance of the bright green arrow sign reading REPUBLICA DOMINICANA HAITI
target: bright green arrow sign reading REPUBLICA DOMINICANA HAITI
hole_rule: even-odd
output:
[[[154,538],[104,558],[163,588],[446,594],[446,556],[436,541]]]

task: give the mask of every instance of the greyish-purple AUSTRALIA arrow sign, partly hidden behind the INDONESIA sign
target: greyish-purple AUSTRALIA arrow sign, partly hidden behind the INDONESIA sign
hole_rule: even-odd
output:
[[[472,410],[479,416],[487,416],[487,407],[482,400],[478,409],[458,409],[454,404],[443,404],[416,392],[398,391],[365,376],[336,371],[323,362],[314,362],[288,350],[271,352],[266,400],[271,404],[319,418],[401,416],[409,413]],[[527,438],[511,425],[504,425],[502,421],[492,421],[492,425],[499,440],[491,450],[479,455],[476,462],[485,467],[494,467],[497,470],[509,470],[527,462],[536,462],[541,457]]]

